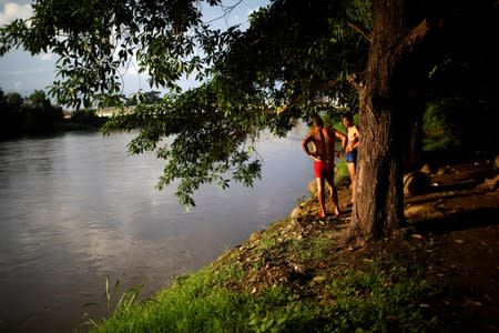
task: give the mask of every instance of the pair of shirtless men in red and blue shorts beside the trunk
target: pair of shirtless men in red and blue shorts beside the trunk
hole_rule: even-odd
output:
[[[348,173],[352,180],[352,200],[355,200],[355,169],[357,164],[357,147],[359,140],[359,132],[357,127],[353,122],[350,115],[346,115],[343,119],[343,123],[347,128],[347,134],[344,134],[334,129],[327,129],[324,125],[323,119],[315,114],[312,117],[312,131],[302,141],[302,148],[305,153],[314,159],[314,172],[317,182],[317,196],[319,201],[319,216],[326,216],[326,203],[325,203],[325,181],[330,186],[333,210],[336,216],[339,216],[340,211],[338,206],[338,194],[334,186],[335,175],[335,142],[336,139],[342,141],[342,152],[346,153],[346,161],[348,165]],[[314,150],[309,149],[309,143],[313,143]]]

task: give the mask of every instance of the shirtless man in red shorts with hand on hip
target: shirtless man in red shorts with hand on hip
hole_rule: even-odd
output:
[[[314,159],[315,180],[317,182],[317,196],[319,201],[319,216],[326,216],[326,203],[325,203],[325,180],[329,183],[332,189],[332,200],[334,214],[339,216],[338,208],[338,194],[334,186],[335,179],[335,139],[342,140],[343,148],[345,149],[347,138],[345,134],[335,130],[329,130],[324,127],[324,122],[319,115],[312,117],[312,131],[302,141],[302,148],[305,153]],[[313,143],[314,150],[308,147]]]

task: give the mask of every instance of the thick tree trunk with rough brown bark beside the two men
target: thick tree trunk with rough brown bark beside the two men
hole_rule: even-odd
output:
[[[360,144],[357,186],[346,241],[361,245],[404,222],[403,148],[410,130],[399,69],[405,38],[404,1],[374,3],[369,60],[359,87]]]

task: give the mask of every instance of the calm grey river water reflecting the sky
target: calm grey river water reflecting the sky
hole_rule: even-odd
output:
[[[143,297],[291,213],[313,180],[303,130],[263,135],[254,188],[203,186],[186,211],[155,189],[153,154],[128,157],[136,133],[0,142],[0,332],[84,332],[105,315],[105,279]]]

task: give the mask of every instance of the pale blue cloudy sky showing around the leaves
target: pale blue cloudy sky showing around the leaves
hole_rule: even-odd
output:
[[[225,19],[216,20],[216,28],[223,29],[233,24],[242,24],[247,28],[247,17],[259,7],[267,6],[269,0],[224,0],[226,6],[241,2]],[[14,19],[27,19],[31,17],[30,0],[0,0],[0,26],[8,24]],[[221,11],[211,9],[206,3],[206,16],[210,18],[220,18]],[[29,97],[34,90],[48,91],[55,79],[57,57],[52,53],[31,56],[23,50],[11,51],[0,58],[0,89],[4,93],[18,92],[23,97]],[[181,85],[189,88],[192,82],[184,81]],[[151,91],[145,75],[139,75],[132,68],[124,75],[125,95],[142,89]]]

